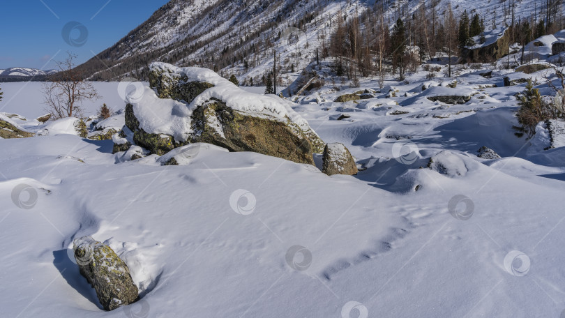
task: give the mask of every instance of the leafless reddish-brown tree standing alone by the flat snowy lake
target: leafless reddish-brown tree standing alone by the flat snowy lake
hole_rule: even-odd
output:
[[[83,79],[82,72],[75,68],[75,54],[67,53],[65,61],[57,62],[59,72],[50,76],[43,84],[43,103],[52,114],[52,119],[82,116],[84,100],[98,100],[100,95],[91,82]]]

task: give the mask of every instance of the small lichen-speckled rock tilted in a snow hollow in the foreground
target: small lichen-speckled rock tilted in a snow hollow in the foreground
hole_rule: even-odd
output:
[[[94,287],[105,310],[114,310],[137,300],[137,286],[128,265],[110,246],[84,236],[75,239],[74,250],[80,273]]]

